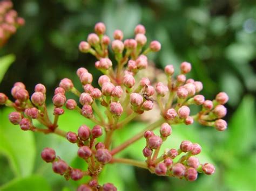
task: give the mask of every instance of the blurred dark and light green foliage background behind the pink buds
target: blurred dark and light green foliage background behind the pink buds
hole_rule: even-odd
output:
[[[157,68],[182,61],[192,63],[189,77],[204,84],[203,95],[212,100],[219,91],[230,96],[226,104],[228,129],[217,132],[194,124],[191,128],[173,128],[173,138],[166,147],[178,147],[189,139],[203,147],[201,162],[213,163],[212,176],[199,175],[195,182],[152,175],[139,168],[109,165],[102,183],[113,182],[119,190],[256,190],[256,2],[239,0],[179,1],[93,1],[45,0],[13,1],[14,9],[26,24],[1,48],[0,56],[16,55],[0,83],[0,92],[10,96],[16,81],[32,92],[43,83],[48,102],[58,83],[68,77],[79,84],[78,67],[86,67],[94,79],[96,59],[78,51],[78,44],[93,32],[95,23],[104,22],[107,35],[120,29],[124,38],[132,38],[137,24],[146,27],[148,41],[159,40],[161,51],[150,55]],[[113,39],[113,38],[112,38]],[[42,148],[56,148],[58,155],[83,167],[72,158],[76,147],[56,136],[22,132],[8,122],[11,110],[0,108],[0,189],[2,190],[74,190],[79,183],[65,181],[51,171],[40,158]],[[68,111],[67,111],[68,112]],[[74,131],[84,119],[70,113],[61,119],[63,129]],[[120,132],[116,144],[127,139],[143,123],[134,122],[129,131]],[[143,159],[144,140],[122,155]],[[168,145],[170,144],[170,146]],[[85,168],[85,167],[84,167]],[[26,189],[25,189],[26,188]]]

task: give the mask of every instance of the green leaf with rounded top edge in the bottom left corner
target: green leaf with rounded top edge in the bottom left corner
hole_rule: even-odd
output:
[[[0,187],[2,191],[50,191],[48,182],[39,175],[33,175],[27,178],[15,179]]]

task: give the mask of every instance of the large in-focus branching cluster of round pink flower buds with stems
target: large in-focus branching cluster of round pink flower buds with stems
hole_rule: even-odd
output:
[[[112,42],[104,34],[105,30],[103,23],[97,23],[95,33],[89,34],[87,41],[79,44],[80,52],[90,53],[98,60],[95,62],[95,67],[103,73],[98,79],[100,88],[92,86],[93,76],[83,67],[77,70],[77,76],[83,86],[82,93],[73,86],[70,79],[61,80],[52,97],[55,105],[52,122],[45,105],[45,86],[37,84],[35,93],[29,96],[25,85],[22,82],[16,82],[11,89],[14,102],[0,93],[0,104],[16,110],[9,115],[10,122],[19,125],[24,131],[56,133],[68,139],[70,143],[77,144],[77,154],[88,164],[87,169],[72,168],[63,159],[57,157],[52,148],[44,148],[41,156],[44,161],[51,162],[53,171],[64,175],[66,180],[80,180],[83,176],[91,176],[91,180],[79,186],[78,190],[117,190],[111,183],[100,186],[97,181],[104,166],[112,163],[142,167],[160,176],[174,176],[188,181],[196,180],[198,173],[213,174],[215,168],[212,164],[200,164],[195,157],[201,152],[201,146],[197,143],[184,140],[179,148],[166,148],[164,153],[159,151],[165,140],[172,135],[171,126],[175,124],[190,125],[197,121],[200,124],[212,126],[218,131],[224,131],[227,123],[221,118],[226,115],[224,104],[228,101],[227,94],[221,92],[213,101],[205,100],[203,95],[198,94],[203,89],[203,84],[193,79],[186,79],[186,74],[191,70],[191,64],[188,62],[181,63],[180,73],[177,76],[174,76],[173,66],[167,65],[164,69],[166,84],[163,82],[153,84],[146,77],[139,78],[137,73],[148,66],[146,55],[160,51],[160,43],[151,41],[150,45],[146,46],[146,30],[143,25],[136,26],[134,39],[123,40],[123,32],[114,31]],[[113,68],[112,61],[109,59],[109,45],[114,53],[116,69]],[[73,99],[67,100],[66,92],[77,95],[79,102]],[[191,116],[190,105],[193,104],[200,105],[201,109],[196,115]],[[95,126],[81,124],[77,132],[60,130],[58,118],[64,115],[64,106],[90,119]],[[112,148],[114,131],[125,128],[125,125],[135,117],[154,107],[160,110],[156,122],[149,124],[136,136],[128,137],[124,143]],[[45,128],[36,127],[35,120]],[[156,135],[153,130],[157,128],[159,132]],[[104,143],[97,140],[103,135]],[[142,150],[145,161],[114,156],[140,138],[145,138],[145,147]]]

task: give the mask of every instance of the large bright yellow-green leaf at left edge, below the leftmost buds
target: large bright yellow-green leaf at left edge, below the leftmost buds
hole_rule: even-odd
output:
[[[8,157],[16,176],[28,176],[35,162],[35,139],[32,132],[22,131],[8,121],[11,109],[0,111],[0,153]]]

